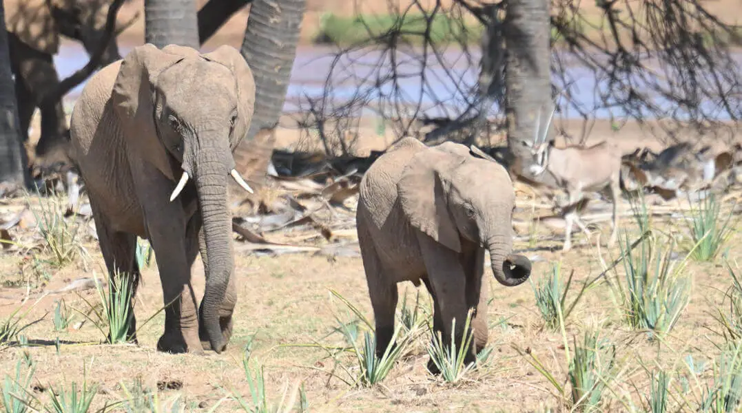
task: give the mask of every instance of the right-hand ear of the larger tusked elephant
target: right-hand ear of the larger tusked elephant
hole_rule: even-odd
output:
[[[252,70],[240,51],[226,44],[211,53],[202,55],[210,62],[217,62],[232,70],[237,88],[237,120],[234,122],[232,136],[229,136],[230,149],[234,151],[247,134],[255,109],[255,78]]]

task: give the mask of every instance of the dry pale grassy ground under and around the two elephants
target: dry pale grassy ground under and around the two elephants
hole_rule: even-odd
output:
[[[51,200],[62,205],[65,202],[64,199]],[[22,203],[24,201],[19,201]],[[39,211],[39,202],[29,201],[28,204]],[[673,205],[670,202],[667,207]],[[728,211],[730,206],[729,202],[723,203],[723,211]],[[22,205],[11,202],[0,208],[17,211]],[[624,202],[622,208],[630,211],[628,202]],[[519,208],[516,219],[528,219],[531,214],[531,208]],[[627,218],[622,223],[630,239],[639,236],[634,220]],[[651,226],[670,235],[689,237],[688,226],[677,217],[653,217]],[[601,228],[608,231],[608,224]],[[279,257],[239,254],[236,258],[239,299],[234,334],[227,351],[220,355],[209,352],[201,357],[162,354],[155,350],[162,333],[162,313],[138,331],[139,346],[109,345],[102,343],[101,332],[96,326],[74,311],[89,311],[85,300],[96,302],[98,293],[94,288],[50,294],[68,285],[70,280],[91,277],[92,271],[105,273],[95,240],[86,232],[85,225],[80,231],[82,235],[72,246],[88,251],[87,265],[83,265],[78,255],[65,265],[50,266],[48,280],[43,283],[24,281],[20,268],[27,265],[31,254],[36,254],[39,260],[47,260],[53,256],[53,251],[41,247],[11,248],[0,255],[0,282],[4,285],[0,289],[0,322],[19,308],[16,314],[24,314],[32,304],[24,322],[48,314],[44,320],[22,331],[25,340],[11,340],[0,348],[0,375],[3,377],[5,373],[15,375],[19,360],[33,360],[35,371],[27,390],[39,400],[34,405],[37,409],[39,403],[51,407],[50,389],[71,389],[71,383],[82,389],[83,383],[87,383],[88,389],[97,389],[91,412],[106,403],[109,406],[118,403],[111,410],[119,412],[182,411],[178,406],[196,412],[243,411],[235,394],[243,398],[242,406],[257,402],[269,411],[280,408],[281,412],[287,407],[292,412],[300,412],[302,405],[311,412],[464,409],[568,412],[575,403],[590,405],[585,400],[597,403],[604,412],[646,412],[650,410],[649,403],[666,403],[669,411],[695,412],[703,403],[718,400],[718,397],[709,399],[710,394],[730,390],[729,386],[720,386],[720,390],[715,390],[714,386],[723,384],[723,372],[733,370],[738,363],[735,348],[729,349],[735,341],[729,339],[732,336],[719,321],[719,311],[727,320],[738,315],[728,314],[730,294],[727,291],[733,280],[723,265],[726,258],[737,274],[742,273],[736,265],[742,257],[739,246],[742,237],[737,228],[732,228],[723,247],[725,254],[709,262],[686,261],[683,275],[689,277],[692,284],[689,305],[672,330],[663,335],[650,335],[626,323],[626,308],[621,307],[620,300],[614,300],[614,290],[606,283],[616,283],[617,277],[623,277],[625,270],[621,264],[614,271],[608,271],[605,280],[586,289],[569,317],[562,318],[565,321],[557,328],[546,328],[530,285],[504,288],[494,282],[490,270],[485,269],[486,291],[491,300],[487,314],[491,353],[477,369],[467,371],[457,383],[445,383],[441,377],[427,373],[430,331],[426,326],[430,298],[424,287],[420,287],[416,305],[416,288],[410,283],[399,285],[398,320],[400,323],[407,320],[407,325],[417,324],[421,328],[413,326],[415,331],[401,328],[402,334],[414,333],[415,338],[388,376],[374,386],[352,386],[359,368],[348,337],[355,337],[355,344],[362,348],[364,331],[368,329],[358,314],[332,294],[337,291],[361,315],[372,320],[360,258],[329,260],[311,254]],[[11,235],[19,245],[33,246],[35,242],[43,245],[44,242],[35,235],[31,225],[27,228],[16,226]],[[548,237],[543,227],[534,230],[530,237],[532,245],[526,239],[516,242],[515,248],[526,250],[524,254],[533,260],[534,283],[551,274],[552,265],[559,260],[562,277],[566,278],[574,270],[567,294],[568,305],[577,297],[582,285],[603,272],[605,262],[612,262],[620,255],[619,245],[612,249],[602,246],[598,250],[594,245],[581,244],[582,235],[576,240],[576,248],[562,253],[559,251],[561,236]],[[687,254],[680,247],[676,251],[679,255],[671,257],[674,260],[682,260]],[[203,294],[203,269],[199,263],[197,268],[194,286]],[[49,294],[43,296],[44,291]],[[405,296],[407,304],[403,305]],[[67,324],[59,320],[54,323],[51,317],[62,298],[65,309],[59,311],[65,313],[59,317],[75,314]],[[27,301],[22,303],[24,299]],[[151,265],[144,269],[137,293],[137,320],[142,323],[161,307],[160,279],[156,266]],[[597,343],[608,344],[600,348],[600,357],[596,359],[592,355],[594,351],[591,352],[585,343],[592,343],[588,338],[597,333]],[[243,363],[247,360],[248,345],[249,363]],[[724,358],[720,358],[722,354]],[[588,361],[578,361],[576,365],[575,357]],[[600,366],[605,360],[612,361],[610,369],[589,367]],[[714,367],[719,360],[726,360],[723,369]],[[578,369],[579,363],[587,363],[588,369]],[[699,367],[701,364],[703,368]],[[539,373],[536,366],[546,374]],[[608,371],[611,377],[591,376],[585,371]],[[260,376],[262,382],[258,380]],[[547,377],[551,377],[551,381]],[[589,389],[575,391],[570,384],[603,383],[601,380],[605,383],[601,385],[598,399],[591,398],[593,393]],[[258,383],[262,383],[260,391],[256,390],[260,389]],[[664,399],[663,394],[658,393],[660,388],[667,389]],[[655,389],[654,392],[651,389]],[[153,405],[160,406],[160,410],[153,409]],[[171,409],[173,405],[176,409]]]

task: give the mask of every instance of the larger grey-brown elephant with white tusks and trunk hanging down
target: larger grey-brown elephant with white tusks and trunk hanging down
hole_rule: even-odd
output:
[[[74,156],[109,273],[128,274],[136,288],[137,236],[154,249],[163,299],[172,303],[160,351],[219,353],[232,334],[227,179],[254,102],[252,71],[234,47],[200,55],[145,44],[96,73],[73,110]],[[191,179],[171,202],[183,171]],[[199,251],[206,291],[197,310],[191,267]]]

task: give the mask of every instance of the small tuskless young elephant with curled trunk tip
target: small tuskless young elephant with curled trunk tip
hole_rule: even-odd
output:
[[[502,285],[519,285],[531,275],[531,262],[511,254],[510,222],[515,194],[510,177],[490,159],[446,142],[427,147],[401,139],[380,156],[361,180],[358,242],[376,323],[376,353],[384,354],[394,332],[397,283],[420,285],[433,296],[433,329],[450,345],[461,345],[467,311],[474,308],[476,360],[487,343],[487,298],[482,291],[485,248]],[[468,334],[468,332],[466,332]],[[427,365],[438,373],[432,360]]]

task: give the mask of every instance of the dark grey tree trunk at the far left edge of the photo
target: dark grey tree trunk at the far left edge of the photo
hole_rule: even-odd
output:
[[[14,187],[23,185],[26,176],[4,14],[0,1],[0,184]]]

